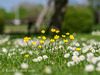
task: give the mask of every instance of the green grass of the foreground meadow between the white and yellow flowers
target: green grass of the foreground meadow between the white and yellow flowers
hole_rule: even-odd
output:
[[[33,39],[34,37],[37,37],[39,34],[35,35],[32,34],[31,38]],[[64,54],[62,51],[65,49],[67,50],[67,46],[64,46],[64,49],[57,49],[55,50],[53,53],[49,52],[49,49],[51,46],[46,45],[46,48],[44,45],[42,49],[39,49],[38,46],[33,47],[32,45],[28,45],[27,47],[22,47],[22,46],[17,46],[17,44],[14,44],[15,39],[23,39],[24,36],[26,36],[25,34],[14,34],[14,35],[10,35],[10,39],[5,42],[4,44],[0,45],[0,53],[2,53],[3,55],[0,55],[0,75],[14,75],[15,70],[18,69],[19,71],[22,70],[21,68],[21,64],[27,63],[29,65],[29,68],[27,69],[27,71],[34,71],[34,72],[22,72],[24,75],[48,75],[44,72],[44,69],[46,66],[50,66],[51,67],[51,71],[52,73],[50,75],[99,75],[100,73],[97,71],[93,71],[93,72],[86,72],[84,70],[85,65],[88,65],[90,63],[87,62],[87,60],[85,59],[84,61],[79,62],[78,65],[75,66],[71,66],[68,67],[67,66],[67,62],[71,61],[71,57],[68,59],[64,58]],[[49,35],[45,35],[47,36],[47,38],[51,38],[51,36]],[[78,40],[78,42],[81,44],[82,41],[80,40],[81,38],[86,38],[86,40],[84,41],[84,43],[87,43],[87,40],[90,39],[94,39],[96,41],[100,41],[99,36],[92,36],[91,34],[77,34],[75,36],[75,39]],[[36,39],[33,39],[34,41]],[[62,38],[60,38],[59,41],[62,41]],[[10,42],[11,44],[8,45],[8,42]],[[17,41],[16,41],[17,42]],[[59,43],[57,43],[59,45]],[[55,44],[54,44],[55,45]],[[54,48],[55,46],[53,46],[52,48]],[[82,47],[82,46],[80,46]],[[93,45],[94,47],[94,45]],[[8,50],[7,54],[2,52],[2,48],[6,48]],[[98,48],[98,47],[97,47]],[[10,51],[11,49],[15,49],[15,51]],[[25,54],[20,54],[21,51],[18,51],[18,49],[26,50],[25,54],[29,54],[27,51],[31,50],[31,51],[39,51],[39,55],[36,55],[35,53],[33,53],[33,55],[29,54],[29,57],[26,58]],[[45,53],[40,53],[41,50],[46,50]],[[11,58],[8,57],[8,53],[13,53],[15,52],[15,55],[12,55]],[[81,51],[80,55],[82,54]],[[91,51],[89,51],[91,52]],[[70,51],[68,50],[67,53],[70,53]],[[70,53],[72,56],[72,53]],[[99,56],[99,53],[95,53],[96,56]],[[43,56],[43,55],[47,55],[48,59],[46,60],[42,60],[40,62],[33,62],[32,59],[37,58],[38,56]],[[84,54],[86,56],[86,54]],[[51,64],[50,61],[53,61],[54,64]],[[96,65],[94,65],[96,66]],[[14,70],[14,72],[12,72],[12,70]],[[4,72],[3,72],[4,71]]]

